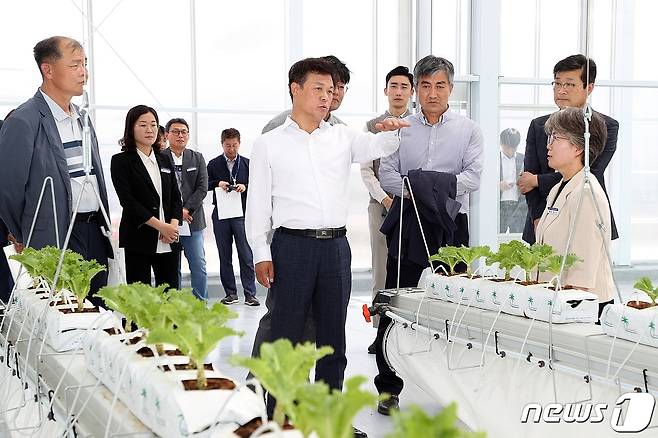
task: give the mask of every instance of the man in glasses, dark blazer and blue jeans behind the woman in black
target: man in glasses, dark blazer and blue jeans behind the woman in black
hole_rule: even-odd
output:
[[[203,230],[206,228],[206,215],[203,200],[208,193],[208,173],[206,161],[201,152],[187,147],[190,128],[185,119],[171,119],[165,126],[169,147],[165,153],[171,155],[176,171],[178,189],[183,197],[183,222],[188,233],[181,233],[180,243],[190,266],[192,292],[201,299],[208,299],[208,276],[206,274],[206,254],[203,248]],[[180,262],[178,278],[180,286]]]

